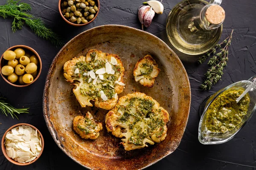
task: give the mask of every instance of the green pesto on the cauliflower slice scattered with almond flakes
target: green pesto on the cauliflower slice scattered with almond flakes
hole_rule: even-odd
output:
[[[92,58],[91,62],[85,62],[85,61],[81,61],[81,62],[77,62],[76,63],[76,68],[79,69],[79,74],[77,74],[76,76],[78,78],[82,78],[84,80],[84,82],[88,82],[90,79],[90,76],[87,75],[83,75],[84,73],[87,73],[91,70],[93,70],[94,72],[100,68],[104,68],[106,62],[102,61],[102,60],[95,60],[96,57],[96,53],[92,53],[90,54],[90,57]],[[116,91],[113,87],[115,87],[115,81],[119,78],[120,75],[120,66],[118,65],[112,65],[113,70],[115,70],[115,74],[103,74],[104,76],[104,80],[101,80],[102,82],[100,84],[102,84],[102,87],[99,88],[96,85],[93,85],[93,80],[89,83],[89,87],[90,89],[87,88],[80,88],[80,93],[83,94],[84,96],[90,96],[90,99],[96,99],[100,97],[100,91],[104,91],[104,94],[108,97],[108,99],[111,99],[114,97],[114,95],[116,94]],[[111,79],[108,79],[109,77],[111,77]],[[104,86],[103,86],[104,84]],[[112,87],[111,87],[111,86]]]

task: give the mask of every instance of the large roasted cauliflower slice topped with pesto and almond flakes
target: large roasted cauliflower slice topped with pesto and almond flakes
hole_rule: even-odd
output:
[[[73,83],[73,93],[81,107],[111,110],[124,89],[124,67],[116,54],[90,50],[86,57],[74,57],[64,64],[64,77]]]

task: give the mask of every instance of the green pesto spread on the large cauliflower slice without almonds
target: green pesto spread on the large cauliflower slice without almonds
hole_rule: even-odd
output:
[[[143,139],[148,137],[148,133],[152,133],[154,130],[159,128],[160,131],[157,132],[156,136],[162,136],[164,131],[164,121],[160,116],[158,116],[161,109],[152,110],[154,102],[149,99],[133,97],[129,100],[127,99],[126,102],[128,101],[129,104],[127,106],[121,105],[118,108],[123,114],[117,119],[118,122],[128,122],[129,129],[134,131],[128,139],[128,142],[135,145],[143,145]],[[136,113],[133,113],[131,108],[135,108]],[[131,117],[133,119],[131,119]],[[138,122],[145,122],[147,126],[145,131],[143,131],[142,127],[136,125]]]

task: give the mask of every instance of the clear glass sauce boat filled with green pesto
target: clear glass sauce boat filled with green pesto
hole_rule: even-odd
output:
[[[209,97],[202,113],[198,140],[202,144],[221,144],[233,139],[256,109],[256,87],[238,102],[236,99],[256,79],[235,82]]]

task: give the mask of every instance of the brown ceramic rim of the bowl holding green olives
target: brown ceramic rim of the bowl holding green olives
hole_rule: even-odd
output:
[[[2,71],[1,71],[1,70],[2,70],[2,65],[3,65],[3,62],[4,62],[3,54],[2,54],[2,57],[1,57],[1,59],[0,59],[0,74],[1,74],[1,76],[3,77],[3,79],[4,79],[9,85],[12,85],[12,86],[15,86],[15,87],[19,87],[19,88],[29,86],[29,85],[31,85],[33,82],[35,82],[35,81],[38,79],[38,77],[40,76],[40,74],[41,74],[41,71],[42,71],[42,61],[41,61],[41,58],[40,58],[39,54],[38,54],[33,48],[31,48],[31,47],[29,47],[29,46],[26,46],[26,45],[15,45],[15,46],[12,46],[12,47],[8,48],[6,51],[8,51],[8,50],[12,50],[12,51],[13,51],[14,48],[25,48],[25,49],[27,49],[27,50],[29,50],[29,51],[32,51],[32,53],[35,54],[36,57],[38,57],[38,60],[39,60],[39,62],[40,62],[40,68],[39,68],[38,75],[36,76],[36,78],[35,78],[31,83],[26,84],[26,85],[15,85],[14,83],[9,82],[8,79],[6,79],[6,77],[2,74]]]

